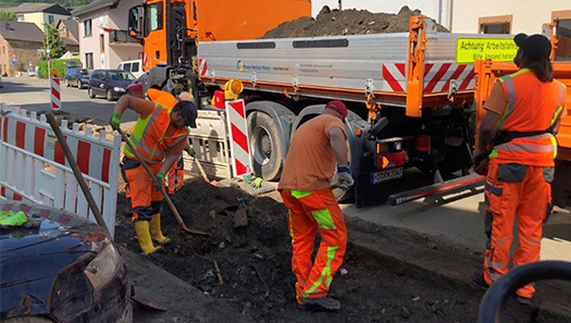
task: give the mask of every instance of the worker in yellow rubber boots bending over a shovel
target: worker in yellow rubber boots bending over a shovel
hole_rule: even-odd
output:
[[[147,163],[158,183],[164,186],[164,175],[181,153],[187,147],[187,126],[196,127],[197,108],[190,101],[178,101],[173,108],[123,96],[117,101],[110,124],[113,129],[121,125],[121,115],[131,109],[139,114],[132,129],[129,142],[133,145],[142,162]],[[161,231],[160,208],[163,196],[161,187],[156,187],[141,161],[128,146],[123,149],[124,158],[122,173],[125,177],[125,195],[131,199],[133,209],[132,221],[142,253],[149,254],[158,250],[152,240],[160,245],[170,243]]]

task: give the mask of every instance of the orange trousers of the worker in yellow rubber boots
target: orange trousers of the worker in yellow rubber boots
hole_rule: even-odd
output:
[[[151,172],[157,175],[162,163],[148,165]],[[152,215],[161,212],[163,200],[161,191],[152,185],[152,178],[138,161],[124,158],[121,171],[126,183],[125,196],[131,200],[131,208],[133,209],[132,221],[151,221]]]

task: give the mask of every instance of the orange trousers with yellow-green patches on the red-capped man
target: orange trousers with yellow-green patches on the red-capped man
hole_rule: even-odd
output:
[[[325,297],[347,250],[347,226],[339,204],[330,188],[315,191],[293,189],[281,194],[289,209],[291,270],[297,277],[297,300],[301,303],[301,297]],[[321,245],[312,263],[318,231]]]

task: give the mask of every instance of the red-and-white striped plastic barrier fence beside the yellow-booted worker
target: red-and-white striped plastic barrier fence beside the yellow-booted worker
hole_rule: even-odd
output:
[[[0,195],[14,200],[32,201],[94,220],[87,200],[78,187],[72,169],[46,115],[25,109],[2,107],[0,115]],[[10,113],[7,113],[10,111]],[[67,128],[62,121],[65,140],[79,170],[91,188],[91,195],[103,220],[113,234],[121,136],[96,136],[91,126],[79,132],[79,125]]]

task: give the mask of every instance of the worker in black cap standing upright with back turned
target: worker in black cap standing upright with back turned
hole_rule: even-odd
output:
[[[517,35],[518,72],[500,77],[484,103],[487,111],[479,129],[473,159],[489,151],[485,185],[487,235],[484,271],[472,283],[487,288],[508,272],[513,222],[519,247],[514,266],[539,260],[542,224],[551,212],[549,183],[557,154],[555,135],[566,113],[566,87],[554,80],[551,44],[542,35]],[[518,301],[530,303],[535,289],[517,290]]]

